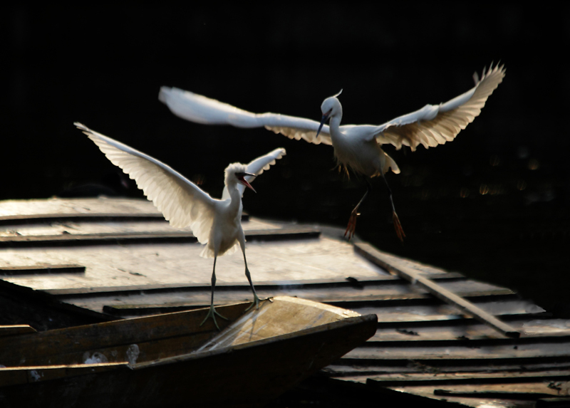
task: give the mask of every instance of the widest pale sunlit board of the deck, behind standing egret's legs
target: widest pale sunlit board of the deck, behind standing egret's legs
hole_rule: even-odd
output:
[[[74,263],[86,273],[13,276],[6,281],[33,289],[202,283],[209,286],[212,258],[201,258],[199,244],[140,244],[0,249],[0,266]],[[346,276],[373,278],[385,272],[357,256],[350,244],[332,239],[250,242],[247,263],[255,281],[296,281]],[[331,263],[331,259],[334,262]],[[219,257],[218,282],[247,282],[241,251]]]

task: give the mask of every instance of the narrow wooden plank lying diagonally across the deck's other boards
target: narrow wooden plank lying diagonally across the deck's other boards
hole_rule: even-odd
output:
[[[418,273],[418,271],[415,271],[408,266],[399,266],[398,268],[395,268],[390,264],[390,260],[391,258],[395,258],[394,256],[389,256],[388,254],[382,253],[370,244],[356,243],[355,249],[358,251],[358,253],[361,253],[366,258],[371,259],[379,266],[382,266],[386,270],[391,271],[412,283],[422,286],[428,292],[432,293],[432,295],[435,295],[437,298],[440,298],[447,303],[455,305],[455,307],[460,308],[460,310],[465,311],[465,313],[469,313],[473,317],[477,318],[477,320],[490,325],[492,328],[499,331],[499,333],[502,333],[509,338],[518,338],[520,336],[519,331],[515,330],[506,323],[503,323],[501,320],[495,318],[493,315],[490,315],[481,308],[478,308],[473,303],[470,303],[455,293],[442,288],[442,286],[438,285],[434,281],[431,281],[429,278],[426,278],[421,273]]]

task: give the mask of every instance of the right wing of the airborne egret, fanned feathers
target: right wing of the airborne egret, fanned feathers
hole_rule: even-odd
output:
[[[481,113],[489,95],[504,78],[504,66],[489,67],[477,80],[475,87],[440,105],[425,105],[408,115],[380,125],[375,132],[379,143],[391,143],[397,149],[402,145],[415,150],[418,145],[435,147],[450,142]]]

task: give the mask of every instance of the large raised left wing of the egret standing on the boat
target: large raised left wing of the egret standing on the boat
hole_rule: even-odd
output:
[[[182,174],[157,159],[90,130],[81,123],[74,125],[95,142],[111,163],[137,182],[138,188],[170,221],[170,225],[177,228],[190,226],[200,243],[208,241],[218,200],[209,197]]]

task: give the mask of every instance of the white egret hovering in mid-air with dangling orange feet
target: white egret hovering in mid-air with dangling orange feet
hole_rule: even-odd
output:
[[[460,130],[465,129],[481,113],[487,98],[504,78],[504,66],[490,66],[483,69],[479,79],[473,75],[475,86],[465,93],[439,105],[425,105],[413,113],[396,117],[383,125],[342,125],[342,106],[338,95],[326,98],[321,105],[321,122],[279,115],[276,113],[251,113],[227,103],[206,98],[178,88],[160,88],[158,98],[177,116],[192,122],[209,125],[233,125],[236,127],[266,127],[275,133],[281,133],[289,139],[325,145],[333,145],[337,164],[345,169],[352,169],[356,174],[366,177],[382,176],[388,186],[385,173],[391,168],[400,172],[398,164],[380,147],[390,143],[400,150],[409,146],[415,150],[418,145],[435,147],[455,139]],[[325,122],[330,120],[329,125]],[[366,179],[366,193],[351,212],[345,235],[348,239],[354,235],[358,207],[370,191],[371,184]],[[403,241],[404,231],[396,214],[392,192],[393,223],[398,238]]]

